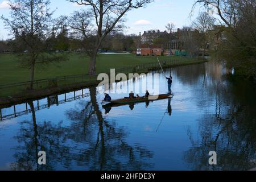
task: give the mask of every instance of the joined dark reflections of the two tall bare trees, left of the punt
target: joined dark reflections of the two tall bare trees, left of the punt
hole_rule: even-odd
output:
[[[16,162],[13,170],[143,170],[150,169],[148,159],[153,154],[138,144],[126,142],[127,131],[102,117],[96,100],[96,89],[90,89],[91,101],[80,101],[66,112],[72,121],[37,123],[35,109],[32,122],[23,121],[15,137],[19,146],[14,148]],[[47,165],[38,166],[38,151],[46,151]],[[76,167],[74,167],[76,166]]]

